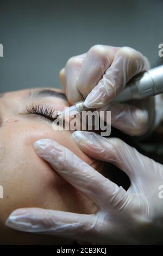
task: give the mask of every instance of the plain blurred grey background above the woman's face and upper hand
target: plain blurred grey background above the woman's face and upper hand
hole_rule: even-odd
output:
[[[68,58],[92,45],[130,46],[158,65],[163,2],[0,0],[0,91],[60,87]]]

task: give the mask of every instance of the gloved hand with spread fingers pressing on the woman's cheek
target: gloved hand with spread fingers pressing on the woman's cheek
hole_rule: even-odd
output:
[[[7,225],[21,231],[67,236],[98,244],[154,244],[163,242],[163,166],[117,138],[93,132],[73,133],[89,156],[115,164],[129,176],[128,191],[106,179],[70,150],[51,139],[34,144],[36,153],[56,172],[98,206],[97,214],[39,208],[11,213]]]

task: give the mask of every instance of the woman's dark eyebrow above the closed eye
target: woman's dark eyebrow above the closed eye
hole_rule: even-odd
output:
[[[28,96],[59,97],[60,99],[67,100],[67,97],[64,93],[57,92],[56,90],[50,90],[50,89],[34,90],[34,91],[29,92]]]

